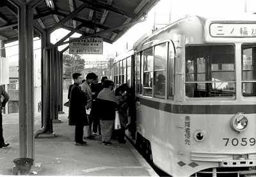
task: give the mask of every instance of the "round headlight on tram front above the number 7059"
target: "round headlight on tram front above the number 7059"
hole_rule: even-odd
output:
[[[245,131],[248,125],[248,118],[246,118],[243,114],[235,115],[231,119],[231,127],[237,132]]]

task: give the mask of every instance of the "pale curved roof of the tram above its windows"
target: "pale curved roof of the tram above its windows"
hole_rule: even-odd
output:
[[[182,34],[188,36],[198,36],[198,38],[204,40],[204,25],[207,22],[253,22],[256,24],[255,14],[238,13],[230,14],[225,17],[211,17],[203,15],[192,15],[185,18],[181,18],[170,25],[167,25],[163,29],[154,32],[150,35],[144,35],[133,45],[133,50],[138,52],[145,48],[148,48],[157,43],[162,43],[166,39],[170,39],[175,34]]]

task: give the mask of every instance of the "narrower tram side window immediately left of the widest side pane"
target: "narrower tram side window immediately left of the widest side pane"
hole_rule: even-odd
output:
[[[153,85],[153,48],[148,48],[143,52],[143,96],[152,96]]]

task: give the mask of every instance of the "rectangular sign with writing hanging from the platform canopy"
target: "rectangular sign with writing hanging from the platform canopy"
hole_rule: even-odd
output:
[[[76,39],[76,38],[70,38]],[[79,39],[69,44],[70,54],[102,54],[103,39],[102,38],[86,38]]]

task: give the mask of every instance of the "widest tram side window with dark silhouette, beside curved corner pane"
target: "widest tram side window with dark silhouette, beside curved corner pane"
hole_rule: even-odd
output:
[[[159,48],[159,47],[164,48],[164,53],[163,53],[163,51],[162,52],[160,51],[161,48]],[[154,71],[154,73],[153,73],[153,80],[154,80],[153,88],[154,89],[153,89],[153,91],[154,92],[153,92],[153,96],[157,97],[159,99],[166,99],[166,85],[167,85],[167,75],[168,75],[167,74],[168,73],[167,72],[167,69],[168,69],[168,43],[165,42],[165,43],[160,43],[158,45],[155,45],[153,53],[154,53],[154,58],[153,58],[153,60],[154,60],[153,61],[153,63],[154,63],[154,66],[153,66],[153,71]],[[157,54],[159,53],[160,58],[164,59],[165,63],[162,63],[162,66],[157,66],[157,64],[161,64],[161,62],[159,62],[160,58],[158,59],[156,57],[156,53]],[[162,92],[157,87],[157,73],[161,73],[163,75],[163,77],[161,77],[161,80],[163,79],[164,82],[162,81],[161,83],[159,83],[161,85],[164,85]],[[158,77],[158,79],[160,79],[160,78]],[[159,86],[161,86],[161,85],[159,85]],[[159,91],[157,91],[157,90],[159,90]]]

